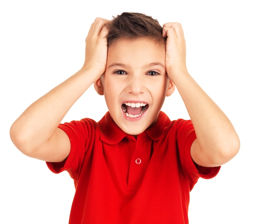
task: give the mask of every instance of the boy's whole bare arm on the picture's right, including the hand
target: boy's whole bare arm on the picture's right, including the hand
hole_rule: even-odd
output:
[[[164,24],[163,36],[167,38],[166,72],[184,101],[197,136],[191,146],[191,157],[200,166],[225,164],[238,153],[238,135],[227,116],[187,71],[186,44],[181,25]]]

